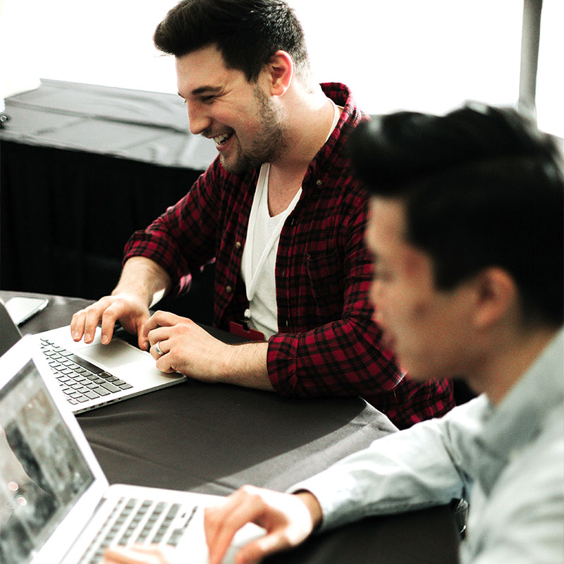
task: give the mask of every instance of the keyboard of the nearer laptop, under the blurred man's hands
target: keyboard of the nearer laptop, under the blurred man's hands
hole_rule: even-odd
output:
[[[79,564],[98,564],[110,545],[177,546],[196,510],[197,505],[187,510],[180,503],[122,497],[111,510]]]

